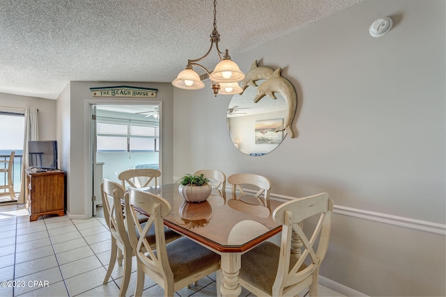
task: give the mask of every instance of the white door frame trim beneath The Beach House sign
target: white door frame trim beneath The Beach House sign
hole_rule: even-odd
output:
[[[94,172],[94,166],[93,166],[93,127],[91,120],[92,116],[92,106],[93,105],[147,105],[147,104],[157,104],[159,106],[160,111],[160,152],[158,153],[158,159],[159,159],[159,168],[161,171],[161,178],[163,178],[162,174],[162,138],[163,138],[163,129],[162,129],[162,119],[163,119],[163,113],[162,113],[162,101],[161,100],[150,100],[150,99],[125,99],[125,97],[120,99],[86,99],[84,101],[84,114],[88,115],[85,119],[85,133],[84,133],[84,141],[86,143],[84,147],[84,155],[86,158],[84,159],[84,168],[86,168],[86,172],[84,175],[84,211],[87,216],[87,218],[91,218],[93,216],[93,206],[94,202],[91,200],[91,197],[94,195],[93,192],[93,172]],[[95,152],[94,152],[95,153]],[[98,199],[98,198],[96,198]]]

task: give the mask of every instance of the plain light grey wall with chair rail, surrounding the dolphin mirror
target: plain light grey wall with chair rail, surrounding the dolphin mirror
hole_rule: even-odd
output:
[[[383,16],[394,28],[372,38]],[[445,296],[445,1],[364,1],[233,59],[282,67],[297,137],[247,156],[226,131],[231,97],[209,82],[175,89],[174,175],[217,168],[266,175],[273,195],[327,191],[323,277],[369,296]]]

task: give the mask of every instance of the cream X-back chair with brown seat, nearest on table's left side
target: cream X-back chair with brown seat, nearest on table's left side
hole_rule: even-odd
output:
[[[164,296],[174,296],[174,292],[178,289],[220,270],[220,255],[208,248],[184,236],[166,243],[163,218],[171,212],[171,205],[167,200],[152,193],[130,188],[125,194],[125,201],[129,204],[129,207],[125,207],[128,230],[141,234],[138,239],[135,234],[130,236],[137,255],[137,283],[134,296],[142,294],[144,275],[148,275],[164,289]],[[139,223],[137,209],[149,215],[145,225]],[[149,245],[145,239],[152,228],[155,230],[155,247]]]

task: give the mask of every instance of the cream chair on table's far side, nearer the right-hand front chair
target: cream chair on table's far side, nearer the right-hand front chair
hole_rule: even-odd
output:
[[[252,173],[236,173],[228,177],[228,183],[232,184],[232,195],[234,199],[240,199],[241,196],[237,196],[237,192],[241,195],[246,195],[243,186],[251,185],[255,186],[257,191],[254,197],[259,200],[263,205],[268,203],[270,199],[271,181],[267,177],[262,175],[254,175]],[[263,201],[261,200],[261,195],[263,194]]]

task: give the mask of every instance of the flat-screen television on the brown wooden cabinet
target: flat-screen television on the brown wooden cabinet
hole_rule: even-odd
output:
[[[57,169],[57,141],[29,141],[29,168]]]

